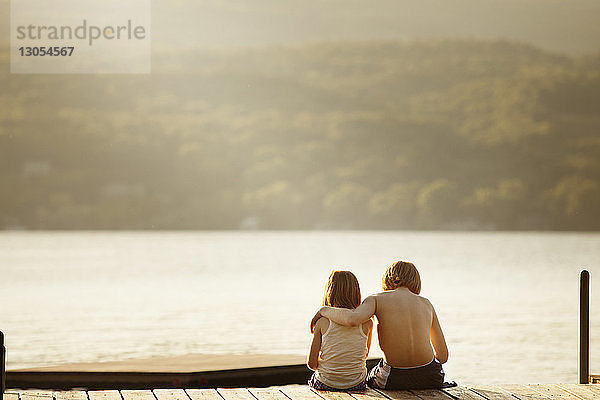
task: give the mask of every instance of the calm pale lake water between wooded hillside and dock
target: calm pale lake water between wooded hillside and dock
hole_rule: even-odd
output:
[[[449,379],[575,382],[578,272],[600,278],[596,233],[0,233],[8,366],[305,354],[330,270],[350,268],[368,294],[397,259],[421,272]]]

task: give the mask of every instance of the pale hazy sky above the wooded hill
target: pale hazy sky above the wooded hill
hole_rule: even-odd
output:
[[[0,4],[6,43],[9,1]],[[156,48],[474,37],[570,54],[600,49],[596,0],[154,0],[152,14]]]

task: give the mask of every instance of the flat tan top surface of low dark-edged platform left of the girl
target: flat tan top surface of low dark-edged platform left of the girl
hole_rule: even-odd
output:
[[[241,368],[296,365],[306,362],[299,354],[186,354],[134,358],[121,361],[81,362],[45,367],[9,369],[10,372],[206,372]]]

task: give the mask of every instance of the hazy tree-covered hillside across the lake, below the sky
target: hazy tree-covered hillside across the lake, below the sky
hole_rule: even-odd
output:
[[[0,75],[0,228],[600,229],[600,55],[320,43],[153,71]]]

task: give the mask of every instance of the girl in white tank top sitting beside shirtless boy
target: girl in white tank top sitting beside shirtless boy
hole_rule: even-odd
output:
[[[350,271],[333,271],[325,286],[323,305],[355,309],[360,305],[360,287]],[[307,358],[308,368],[315,371],[308,381],[317,390],[364,390],[371,348],[373,321],[357,326],[342,326],[320,318],[313,331]],[[321,357],[319,358],[319,353]]]

